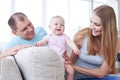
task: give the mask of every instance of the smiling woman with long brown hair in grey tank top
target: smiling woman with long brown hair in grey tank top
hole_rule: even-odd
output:
[[[120,50],[116,16],[112,7],[102,5],[94,9],[90,27],[77,32],[74,42],[80,55],[64,55],[66,64],[75,70],[74,80],[120,80],[115,73],[115,58]],[[75,63],[75,64],[73,64]]]

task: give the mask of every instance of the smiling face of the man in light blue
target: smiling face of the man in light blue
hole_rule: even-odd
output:
[[[16,19],[17,29],[13,31],[16,36],[20,36],[23,39],[30,40],[35,36],[33,24],[25,17],[24,21]]]

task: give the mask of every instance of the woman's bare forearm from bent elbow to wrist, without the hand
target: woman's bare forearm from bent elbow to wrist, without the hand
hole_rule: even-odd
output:
[[[77,65],[73,65],[73,68],[80,73],[98,78],[102,78],[110,72],[110,68],[106,61],[103,62],[100,68],[83,68]]]

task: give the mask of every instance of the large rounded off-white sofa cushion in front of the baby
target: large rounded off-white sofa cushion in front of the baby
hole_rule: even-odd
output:
[[[64,65],[48,47],[23,49],[15,58],[25,80],[64,80]]]

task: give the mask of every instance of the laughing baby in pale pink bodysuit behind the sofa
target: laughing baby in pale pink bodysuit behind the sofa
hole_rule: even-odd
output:
[[[64,19],[61,16],[54,16],[50,20],[49,29],[51,33],[44,37],[43,40],[37,42],[35,46],[43,46],[48,44],[50,48],[58,53],[61,59],[63,59],[63,53],[67,50],[67,45],[74,51],[76,55],[79,55],[80,51],[75,43],[64,34],[65,26]],[[65,71],[67,73],[67,80],[73,80],[74,69],[71,65],[65,64]]]

